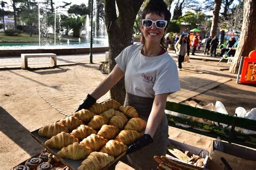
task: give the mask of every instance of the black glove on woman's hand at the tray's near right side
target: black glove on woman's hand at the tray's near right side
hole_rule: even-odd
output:
[[[126,154],[130,154],[132,152],[138,151],[144,146],[147,146],[149,144],[153,143],[153,139],[149,134],[144,134],[142,138],[137,140],[135,143],[129,146]]]

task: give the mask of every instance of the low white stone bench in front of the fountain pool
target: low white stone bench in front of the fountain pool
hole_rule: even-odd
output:
[[[30,54],[21,54],[22,59],[22,69],[28,68],[28,58],[42,58],[42,57],[49,57],[50,58],[50,66],[56,67],[57,66],[57,56],[54,53],[30,53]]]

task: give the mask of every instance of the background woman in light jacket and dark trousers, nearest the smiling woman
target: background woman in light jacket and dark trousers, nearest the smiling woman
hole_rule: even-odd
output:
[[[187,52],[187,41],[184,35],[180,36],[174,48],[176,49],[176,54],[178,55],[178,70],[180,70],[182,68],[181,63],[184,62]]]

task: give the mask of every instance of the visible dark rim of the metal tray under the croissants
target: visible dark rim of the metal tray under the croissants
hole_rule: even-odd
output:
[[[50,148],[50,147],[46,146],[44,143],[45,143],[46,140],[48,140],[48,139],[50,139],[50,138],[39,136],[39,135],[38,135],[38,130],[39,130],[39,129],[37,129],[37,130],[35,130],[35,131],[33,131],[33,132],[30,133],[31,136],[32,136],[32,138],[34,138],[39,144],[41,144],[44,148],[46,148],[50,153],[54,154],[57,158],[59,158],[59,160],[60,160],[64,165],[68,166],[68,167],[69,167],[70,169],[72,169],[72,170],[77,169],[77,168],[81,165],[81,163],[82,163],[82,161],[83,161],[84,159],[80,159],[80,160],[71,160],[71,159],[59,157],[59,155],[57,154],[57,152],[60,151],[60,150],[59,150],[59,149],[56,149],[56,148]],[[126,153],[126,151],[123,152],[122,154],[120,154],[118,157],[116,157],[112,162],[110,162],[109,165],[107,165],[107,166],[104,167],[103,169],[109,168],[112,164],[114,164],[114,163],[117,162],[120,158],[122,158],[125,153]]]

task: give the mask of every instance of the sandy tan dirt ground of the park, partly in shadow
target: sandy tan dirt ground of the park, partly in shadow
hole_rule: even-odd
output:
[[[188,101],[194,100],[201,105],[221,101],[231,115],[237,107],[255,108],[256,86],[236,84],[237,75],[220,70],[228,67],[226,62],[219,66],[215,61],[186,63],[179,71],[180,76],[207,73],[232,78]],[[43,150],[30,137],[30,132],[58,121],[64,117],[62,113],[75,110],[106,76],[98,68],[99,63],[55,69],[0,70],[0,169],[10,169]],[[107,98],[109,94],[99,102]]]

